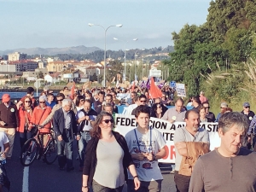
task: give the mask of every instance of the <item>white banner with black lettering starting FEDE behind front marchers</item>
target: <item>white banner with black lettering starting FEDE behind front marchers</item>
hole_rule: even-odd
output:
[[[116,113],[115,124],[115,131],[118,131],[124,137],[128,131],[131,131],[137,127],[137,121],[134,115]],[[166,139],[166,157],[159,161],[175,163],[175,148],[173,143],[174,132],[175,129],[186,124],[184,122],[176,122],[171,124],[163,119],[150,118],[149,125],[160,131],[163,134],[163,137]],[[218,137],[218,123],[201,123],[201,128],[204,128],[209,132],[210,149],[213,150],[214,148],[218,148],[220,145],[220,138]]]

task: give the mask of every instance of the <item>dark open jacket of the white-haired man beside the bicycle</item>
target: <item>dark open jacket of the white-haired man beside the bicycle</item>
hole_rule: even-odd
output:
[[[74,135],[77,135],[77,134],[79,135],[75,114],[73,111],[70,111],[70,113],[72,115],[71,131]],[[64,131],[64,127],[65,127],[65,119],[64,119],[63,109],[59,108],[58,110],[55,111],[55,114],[53,116],[53,128],[55,131],[55,137],[61,136],[61,134]]]

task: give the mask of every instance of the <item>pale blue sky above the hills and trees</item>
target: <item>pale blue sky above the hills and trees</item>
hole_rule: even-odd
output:
[[[79,45],[104,49],[108,26],[107,49],[165,48],[173,45],[172,32],[179,32],[185,24],[199,26],[206,22],[210,2],[0,0],[0,50]],[[115,26],[118,24],[123,26]]]

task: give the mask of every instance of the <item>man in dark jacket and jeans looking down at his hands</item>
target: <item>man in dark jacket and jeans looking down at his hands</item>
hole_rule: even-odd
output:
[[[92,129],[92,125],[95,122],[97,113],[94,109],[91,108],[90,100],[84,101],[84,108],[79,110],[76,115],[76,119],[78,121],[78,131],[80,132],[79,139],[79,161],[80,168],[79,171],[83,171],[84,167],[84,154],[87,143],[90,141],[90,130]]]

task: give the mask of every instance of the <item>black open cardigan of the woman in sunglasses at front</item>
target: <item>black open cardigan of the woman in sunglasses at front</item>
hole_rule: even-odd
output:
[[[113,136],[115,137],[116,141],[119,143],[121,148],[124,150],[124,158],[123,158],[123,167],[124,167],[124,173],[125,173],[125,181],[128,179],[127,174],[127,168],[128,166],[133,165],[133,161],[131,159],[131,154],[129,153],[129,148],[127,146],[127,143],[125,141],[125,137],[119,134],[119,132],[113,132]],[[99,142],[99,139],[96,137],[92,137],[90,141],[87,143],[86,149],[85,149],[85,160],[84,160],[84,170],[83,174],[88,175],[88,185],[92,183],[94,173],[96,171],[96,164],[97,164],[97,158],[96,158],[96,148],[97,144]],[[109,152],[109,155],[111,155],[111,152]],[[102,170],[104,172],[104,170]],[[109,172],[109,177],[111,177],[111,172]]]

